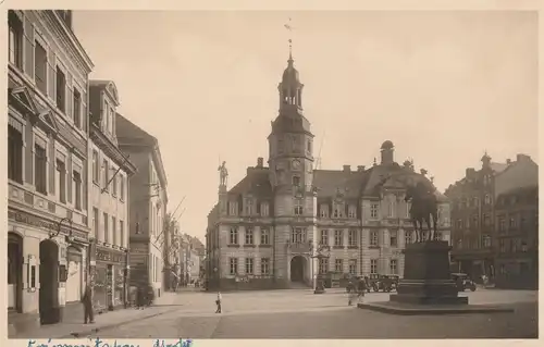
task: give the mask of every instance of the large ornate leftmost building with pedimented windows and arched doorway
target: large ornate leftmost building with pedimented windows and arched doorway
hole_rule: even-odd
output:
[[[61,321],[87,280],[92,62],[71,11],[10,10],[8,23],[8,320],[16,331]]]

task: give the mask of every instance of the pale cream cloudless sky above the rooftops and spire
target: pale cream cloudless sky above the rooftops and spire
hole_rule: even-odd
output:
[[[75,11],[74,30],[90,78],[159,139],[169,210],[185,198],[202,241],[219,161],[231,188],[268,159],[289,37],[321,169],[370,166],[386,139],[441,190],[485,151],[537,161],[535,13]]]

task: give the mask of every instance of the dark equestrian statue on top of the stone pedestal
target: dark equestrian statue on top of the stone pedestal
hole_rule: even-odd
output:
[[[406,189],[405,201],[411,201],[410,218],[416,230],[416,241],[426,241],[426,236],[423,231],[423,222],[429,230],[431,240],[436,240],[438,237],[438,201],[433,189],[430,189],[423,182],[417,185],[409,185]],[[431,219],[433,226],[431,227]],[[418,228],[419,223],[419,228]]]

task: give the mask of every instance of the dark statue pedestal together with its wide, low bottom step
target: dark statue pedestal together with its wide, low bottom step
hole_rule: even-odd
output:
[[[404,250],[405,273],[397,294],[388,302],[359,303],[359,308],[397,314],[444,314],[474,312],[505,312],[486,306],[469,306],[468,297],[459,297],[457,285],[450,278],[447,241],[429,240],[411,244]]]

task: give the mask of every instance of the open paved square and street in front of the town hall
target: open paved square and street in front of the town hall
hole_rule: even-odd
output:
[[[347,306],[341,289],[238,292],[223,294],[215,314],[213,293],[177,294],[173,311],[102,327],[100,338],[534,338],[537,293],[486,290],[466,293],[470,303],[510,305],[515,313],[393,315]],[[385,301],[371,293],[367,301]]]

